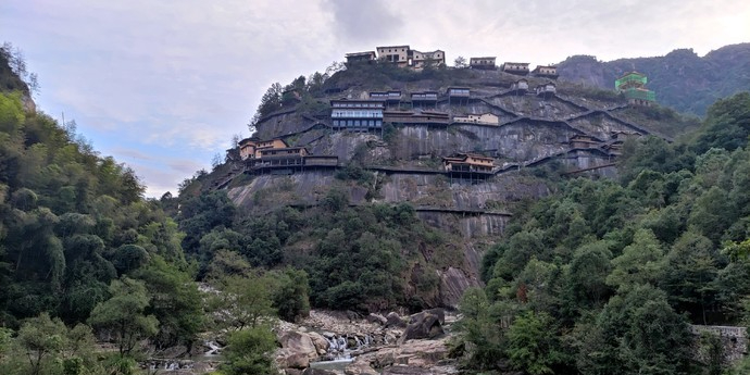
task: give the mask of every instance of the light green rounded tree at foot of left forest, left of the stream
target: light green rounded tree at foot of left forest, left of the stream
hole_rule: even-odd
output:
[[[142,282],[128,277],[112,280],[112,297],[97,304],[89,324],[114,335],[120,355],[129,355],[139,340],[159,332],[159,321],[146,315],[149,296]]]

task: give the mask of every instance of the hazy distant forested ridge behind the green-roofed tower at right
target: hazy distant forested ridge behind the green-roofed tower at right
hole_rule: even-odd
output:
[[[725,46],[702,58],[692,49],[609,62],[574,55],[558,66],[561,79],[608,89],[613,89],[614,80],[629,71],[648,76],[648,88],[657,92],[661,104],[704,115],[716,99],[750,90],[750,43]]]

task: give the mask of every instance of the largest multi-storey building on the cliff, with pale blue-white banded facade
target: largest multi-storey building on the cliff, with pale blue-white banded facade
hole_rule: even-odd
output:
[[[332,100],[332,127],[339,130],[380,132],[384,110],[384,100]]]

